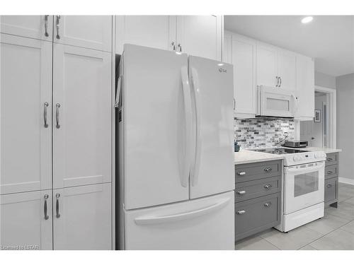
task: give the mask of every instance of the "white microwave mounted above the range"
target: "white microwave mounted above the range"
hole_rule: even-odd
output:
[[[257,116],[289,118],[295,116],[297,98],[294,91],[269,86],[258,86],[257,89]]]

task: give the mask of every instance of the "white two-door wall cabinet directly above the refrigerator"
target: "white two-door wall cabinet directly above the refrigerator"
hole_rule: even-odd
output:
[[[116,16],[116,52],[130,43],[221,60],[222,16]]]

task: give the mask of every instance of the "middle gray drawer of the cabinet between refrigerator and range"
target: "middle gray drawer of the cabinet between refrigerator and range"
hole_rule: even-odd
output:
[[[235,185],[235,201],[244,201],[280,192],[280,177],[257,179]]]

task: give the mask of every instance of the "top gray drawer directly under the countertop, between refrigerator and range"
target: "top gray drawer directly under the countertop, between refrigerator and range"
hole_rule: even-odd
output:
[[[265,163],[250,163],[235,166],[236,183],[246,182],[265,177],[275,177],[281,174],[281,160]]]

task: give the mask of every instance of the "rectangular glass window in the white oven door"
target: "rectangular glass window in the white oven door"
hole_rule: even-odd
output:
[[[319,190],[319,172],[295,175],[294,196],[302,196]]]

